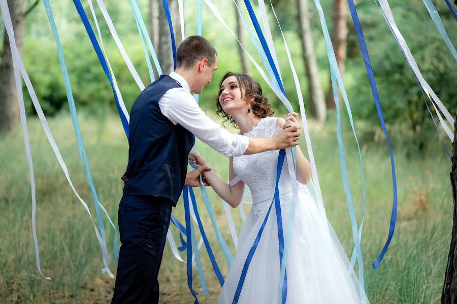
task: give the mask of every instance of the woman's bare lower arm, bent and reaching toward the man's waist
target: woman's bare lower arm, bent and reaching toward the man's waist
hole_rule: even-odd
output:
[[[194,163],[197,164],[197,166],[208,166],[208,163],[198,152],[190,152],[189,155],[192,155],[195,158]],[[232,161],[233,159],[230,158],[230,179],[235,177]],[[214,169],[203,171],[202,174],[211,185],[211,187],[213,187],[217,195],[220,196],[230,206],[236,208],[241,203],[241,199],[243,198],[244,193],[243,181],[240,180],[231,187],[228,183],[220,178],[219,174],[217,174]]]

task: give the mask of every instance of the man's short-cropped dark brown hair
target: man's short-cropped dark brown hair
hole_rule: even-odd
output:
[[[217,56],[213,45],[202,36],[189,36],[181,42],[176,51],[176,67],[190,69],[199,60],[208,59],[208,65],[212,66]]]

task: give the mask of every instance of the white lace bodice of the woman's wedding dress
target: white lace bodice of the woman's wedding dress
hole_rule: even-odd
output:
[[[275,117],[266,117],[260,120],[260,122],[252,129],[252,131],[245,133],[244,136],[248,137],[255,137],[255,138],[264,138],[264,137],[271,137],[273,136],[280,127],[276,126],[276,120],[277,118]],[[259,154],[253,154],[253,155],[243,155],[239,157],[234,157],[233,158],[233,170],[235,171],[235,174],[241,178],[242,181],[246,183],[246,185],[249,187],[251,191],[251,195],[253,198],[253,209],[255,210],[255,213],[258,213],[262,211],[265,208],[262,208],[262,210],[256,210],[255,205],[257,203],[261,203],[261,201],[256,201],[255,197],[267,193],[267,192],[273,192],[275,189],[276,185],[276,168],[278,164],[278,155],[279,155],[279,150],[273,150],[273,151],[266,151],[263,153]],[[242,170],[246,167],[248,163],[251,161],[255,161],[255,159],[259,158],[259,161],[252,167],[252,169],[249,172],[242,172]],[[240,173],[243,173],[240,175]],[[282,167],[281,171],[281,178],[279,182],[279,188],[280,192],[281,189],[287,189],[290,187],[289,182],[288,182],[288,171],[287,171],[287,164],[286,161],[284,161],[284,165]],[[287,193],[284,195],[281,195],[281,203],[283,203],[284,199],[286,199],[286,196],[291,197],[291,193]],[[285,201],[289,201],[286,199]],[[262,204],[265,205],[265,204]],[[269,205],[268,205],[269,206]],[[260,206],[257,206],[260,207]],[[267,207],[268,208],[268,207]]]

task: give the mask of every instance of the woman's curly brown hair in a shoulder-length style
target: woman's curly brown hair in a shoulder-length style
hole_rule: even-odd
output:
[[[217,111],[216,111],[216,116],[218,118],[222,117],[226,121],[232,124],[232,126],[237,127],[235,120],[233,117],[228,115],[223,109],[222,106],[219,103],[219,96],[220,93],[222,92],[220,90],[220,87],[222,83],[224,82],[225,79],[235,76],[238,84],[240,86],[240,91],[241,91],[241,98],[246,101],[247,103],[250,104],[251,111],[254,113],[254,115],[258,118],[264,118],[264,117],[270,117],[274,114],[274,111],[271,107],[271,104],[268,102],[267,96],[265,96],[262,93],[262,87],[258,82],[252,79],[249,75],[246,74],[238,74],[234,72],[226,72],[225,75],[223,75],[222,79],[220,80],[219,84],[219,94],[217,94],[216,98],[216,106],[217,106]],[[254,100],[251,101],[251,99],[254,98]],[[225,121],[222,123],[225,126]]]

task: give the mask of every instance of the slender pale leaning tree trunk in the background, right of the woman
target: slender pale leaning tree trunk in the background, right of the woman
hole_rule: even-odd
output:
[[[306,78],[308,80],[308,99],[311,106],[311,114],[319,122],[327,118],[327,109],[322,87],[319,81],[316,55],[314,54],[313,39],[309,25],[308,0],[297,0],[297,11],[299,20],[299,33],[302,42],[302,54],[305,65]]]

